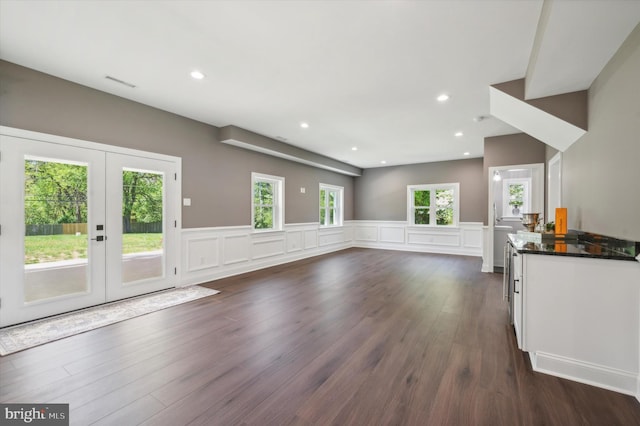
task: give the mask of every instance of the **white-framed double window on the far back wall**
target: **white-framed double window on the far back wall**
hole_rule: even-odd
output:
[[[411,225],[457,226],[459,183],[407,186],[407,221]]]

